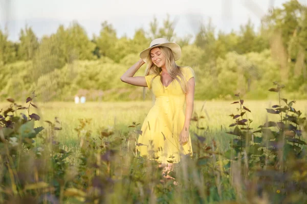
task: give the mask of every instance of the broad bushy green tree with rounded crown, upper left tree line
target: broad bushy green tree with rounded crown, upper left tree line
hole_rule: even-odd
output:
[[[73,22],[68,29],[60,25],[57,32],[50,37],[43,37],[34,57],[33,78],[62,68],[65,63],[74,60],[94,59],[95,44],[87,37],[84,29]]]

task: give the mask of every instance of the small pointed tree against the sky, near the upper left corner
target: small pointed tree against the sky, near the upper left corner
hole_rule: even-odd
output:
[[[19,60],[32,60],[39,46],[38,39],[31,27],[26,25],[25,30],[21,29],[19,34],[20,45],[18,47]]]

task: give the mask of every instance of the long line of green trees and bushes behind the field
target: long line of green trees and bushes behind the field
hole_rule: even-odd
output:
[[[257,31],[251,21],[239,31],[216,31],[209,20],[195,36],[180,38],[169,15],[161,27],[157,18],[149,25],[148,31],[137,29],[128,38],[117,37],[113,25],[104,21],[99,35],[90,38],[73,21],[41,39],[26,25],[17,42],[0,30],[0,99],[23,98],[32,90],[46,101],[75,94],[92,100],[141,99],[141,89],[119,83],[119,77],[157,37],[182,47],[178,64],[194,69],[196,99],[227,99],[234,92],[266,98],[264,90],[273,81],[285,84],[290,97],[307,96],[307,9],[298,1],[268,11]]]

